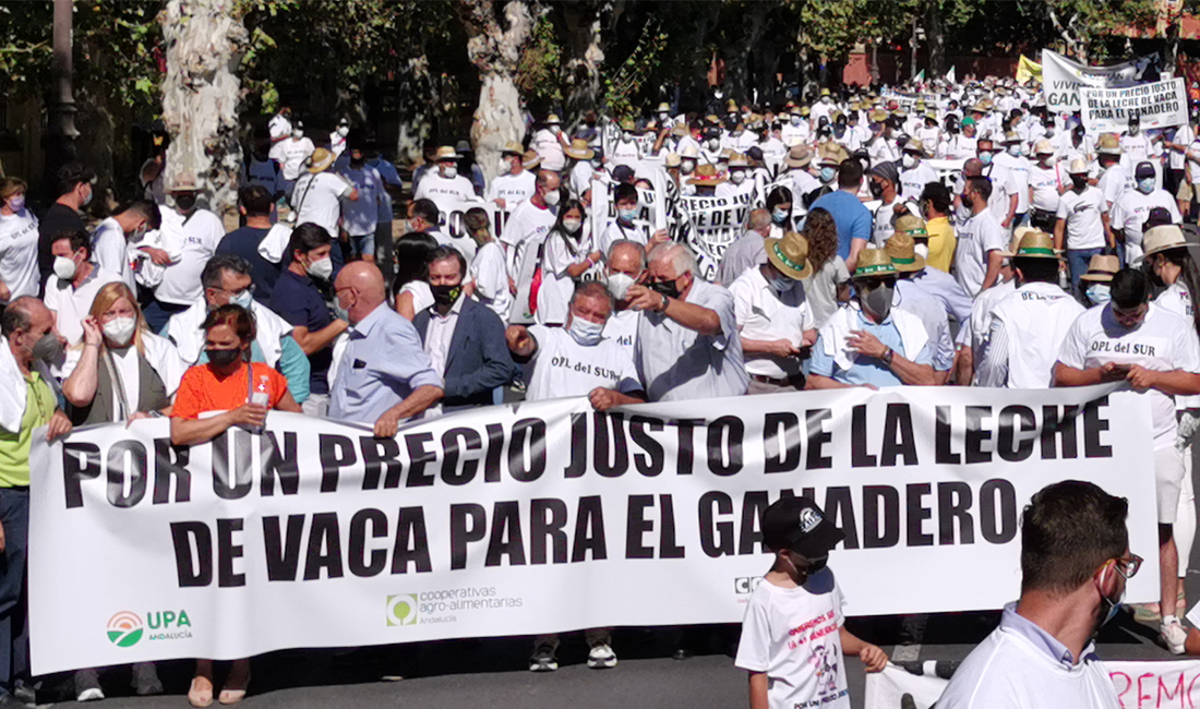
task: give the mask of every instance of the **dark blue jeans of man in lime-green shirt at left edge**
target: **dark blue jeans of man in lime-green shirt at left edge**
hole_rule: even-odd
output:
[[[29,677],[29,624],[25,620],[25,552],[29,548],[29,488],[0,488],[0,696],[13,680]]]

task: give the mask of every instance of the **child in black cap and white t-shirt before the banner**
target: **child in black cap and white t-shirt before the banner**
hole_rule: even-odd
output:
[[[857,655],[868,672],[883,669],[888,656],[844,626],[841,589],[827,564],[845,535],[803,497],[767,507],[762,535],[774,561],[750,596],[734,660],[750,673],[750,707],[848,709],[842,656]]]

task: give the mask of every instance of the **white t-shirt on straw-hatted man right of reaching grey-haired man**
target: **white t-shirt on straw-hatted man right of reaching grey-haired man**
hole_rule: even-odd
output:
[[[791,290],[779,293],[763,277],[761,268],[751,268],[730,283],[730,293],[738,332],[746,340],[787,340],[799,348],[804,331],[816,330],[812,308],[799,281]],[[797,357],[743,353],[750,374],[784,379],[800,373]]]

